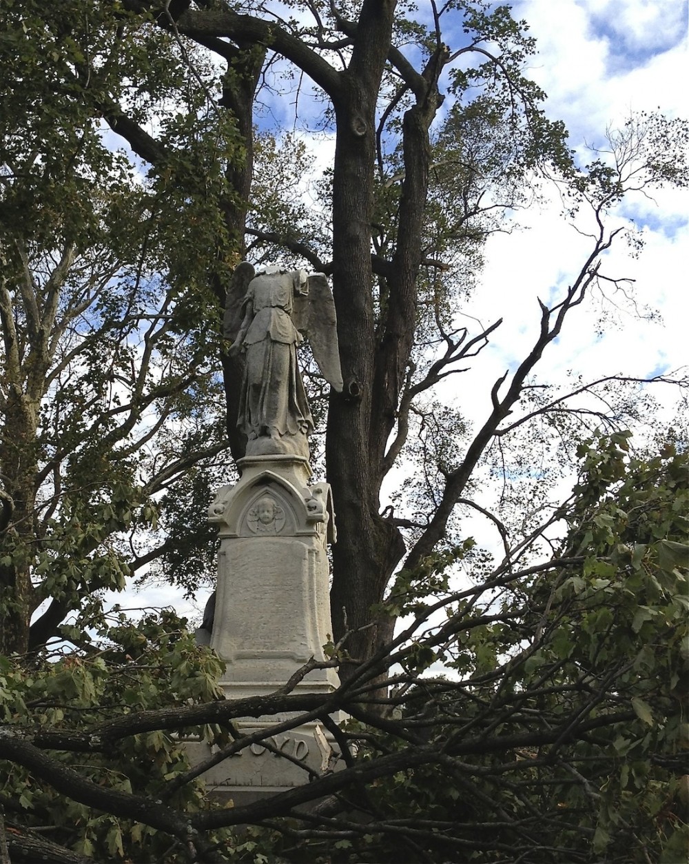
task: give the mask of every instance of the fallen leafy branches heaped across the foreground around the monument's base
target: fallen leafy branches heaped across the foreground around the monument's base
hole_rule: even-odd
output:
[[[54,842],[116,860],[677,861],[687,833],[687,454],[671,437],[656,454],[629,454],[627,433],[579,453],[552,557],[520,568],[515,550],[452,588],[467,541],[425,576],[401,575],[393,596],[406,597],[395,609],[405,631],[325,699],[218,701],[222,664],[171,613],[136,626],[121,616],[96,635],[97,650],[3,660],[8,823],[49,821]],[[346,642],[330,653],[346,657]],[[432,674],[438,661],[445,677]],[[232,743],[235,717],[287,710],[297,726],[302,712],[327,722],[337,708],[351,716],[330,724],[344,765],[268,805],[208,800],[177,737],[201,734],[230,755],[255,740]],[[81,784],[72,789],[70,766]],[[104,815],[85,800],[89,781]],[[150,809],[132,821],[144,800]]]

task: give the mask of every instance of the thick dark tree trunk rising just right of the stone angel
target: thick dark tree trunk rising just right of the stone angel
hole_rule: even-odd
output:
[[[376,99],[390,42],[395,3],[364,3],[343,88],[335,98],[337,144],[332,190],[332,289],[344,391],[332,393],[326,431],[327,476],[338,520],[331,591],[335,639],[355,660],[370,657],[389,636],[371,623],[370,607],[404,553],[395,527],[378,511],[380,483],[370,465],[375,321],[370,232],[376,156]],[[365,630],[359,628],[366,627]],[[356,665],[344,664],[351,677]]]

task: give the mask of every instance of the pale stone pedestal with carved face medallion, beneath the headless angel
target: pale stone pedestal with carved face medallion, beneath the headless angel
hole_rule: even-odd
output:
[[[310,468],[300,456],[249,456],[239,467],[241,480],[219,489],[209,508],[220,534],[211,647],[226,664],[220,683],[231,699],[264,696],[284,686],[310,658],[325,660],[323,645],[332,638],[330,486],[308,486]],[[335,670],[312,670],[293,692],[325,695],[337,686]],[[262,717],[237,727],[253,732],[286,719]],[[319,724],[277,735],[269,744],[319,773],[332,762],[332,747]],[[210,753],[203,743],[190,746],[197,748],[195,760]],[[299,764],[256,744],[207,772],[206,782],[234,797],[275,792],[308,778]]]

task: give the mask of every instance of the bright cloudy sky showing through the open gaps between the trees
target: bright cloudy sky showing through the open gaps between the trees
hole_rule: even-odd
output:
[[[424,3],[419,0],[420,7]],[[530,73],[547,92],[548,115],[564,120],[578,152],[585,143],[604,143],[606,128],[623,123],[632,111],[660,109],[671,118],[689,117],[684,0],[519,0],[513,7],[538,43]],[[625,213],[633,213],[643,228],[644,250],[634,259],[620,243],[608,256],[605,272],[634,279],[638,301],[658,309],[662,317],[642,321],[620,308],[600,333],[597,305],[578,308],[558,344],[548,349],[545,366],[551,380],[564,380],[571,369],[589,378],[617,372],[645,377],[689,362],[686,193],[665,191],[654,200],[637,198],[625,206]],[[490,240],[482,289],[466,309],[484,325],[497,315],[504,318],[476,370],[462,376],[462,389],[477,393],[476,422],[489,410],[486,384],[513,366],[533,342],[536,296],[556,296],[576,276],[587,249],[585,239],[559,218],[554,196],[551,206],[522,214],[521,225],[518,232]],[[666,388],[659,397],[664,416],[670,417],[676,393]],[[173,596],[170,588],[147,588],[130,600],[133,606],[165,605]],[[175,605],[197,614],[180,598]]]

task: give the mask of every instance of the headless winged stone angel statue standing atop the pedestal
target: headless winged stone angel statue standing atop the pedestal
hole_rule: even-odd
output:
[[[335,303],[326,276],[276,268],[256,274],[248,262],[239,264],[227,294],[224,336],[232,340],[230,352],[245,358],[237,426],[248,438],[247,455],[308,458],[313,419],[296,350],[304,335],[323,377],[341,391]]]

